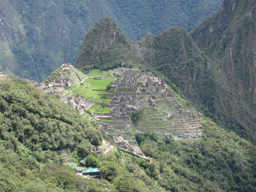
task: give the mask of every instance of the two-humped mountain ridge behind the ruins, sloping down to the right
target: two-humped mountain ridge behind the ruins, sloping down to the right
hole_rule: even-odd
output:
[[[100,27],[102,24],[105,29],[112,28],[112,30],[102,31]],[[224,120],[231,129],[250,140],[255,140],[256,120],[253,113],[255,104],[252,100],[248,100],[246,92],[238,93],[239,87],[235,87],[232,81],[222,75],[220,63],[224,61],[211,59],[210,55],[206,56],[189,34],[181,28],[170,28],[156,36],[148,33],[141,41],[132,43],[125,36],[118,37],[119,40],[117,40],[116,31],[120,34],[122,32],[120,29],[114,30],[113,26],[115,25],[110,18],[104,18],[95,24],[85,37],[76,67],[83,70],[93,67],[106,69],[117,67],[121,62],[125,62],[126,66],[137,65],[155,74],[158,71],[158,75],[163,74],[168,77],[190,101],[206,114]],[[93,35],[93,31],[97,31],[99,35]],[[103,40],[102,36],[107,39]],[[97,42],[97,44],[92,44],[92,42]],[[91,58],[93,59],[90,60]],[[239,55],[232,57],[233,60],[239,58]],[[94,61],[102,66],[93,65],[96,64]],[[84,64],[85,67],[82,67]],[[249,69],[244,70],[244,73],[253,74]],[[234,75],[229,78],[235,82],[247,81],[244,76]],[[254,81],[253,76],[248,76],[248,78]],[[242,87],[250,89],[249,83],[243,84]],[[252,98],[253,95],[250,97]]]

